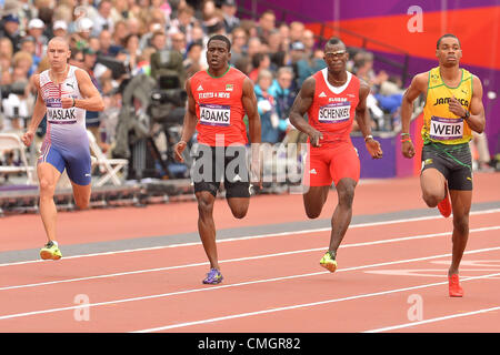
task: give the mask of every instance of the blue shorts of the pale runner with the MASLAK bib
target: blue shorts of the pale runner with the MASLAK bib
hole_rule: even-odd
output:
[[[88,185],[91,182],[89,146],[74,145],[67,150],[56,148],[46,140],[38,158],[38,164],[40,163],[53,165],[61,174],[66,169],[68,178],[78,185]]]

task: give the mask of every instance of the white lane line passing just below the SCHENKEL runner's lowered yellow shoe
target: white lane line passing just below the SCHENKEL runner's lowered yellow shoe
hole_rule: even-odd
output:
[[[489,248],[481,248],[481,250],[474,250],[474,251],[468,251],[464,254],[478,254],[483,252],[491,252],[491,251],[498,251],[500,250],[500,246],[498,247],[489,247]],[[362,268],[370,268],[370,267],[379,267],[379,266],[387,266],[387,265],[396,265],[396,264],[402,264],[402,263],[410,263],[410,262],[417,262],[417,261],[424,261],[424,260],[432,260],[432,258],[440,258],[440,257],[448,257],[451,254],[441,254],[441,255],[431,255],[431,256],[424,256],[424,257],[417,257],[417,258],[409,258],[409,260],[400,260],[400,261],[393,261],[393,262],[386,262],[386,263],[377,263],[377,264],[370,264],[370,265],[360,265],[360,266],[353,266],[348,267],[343,270],[337,271],[339,272],[349,272],[349,271],[357,271]],[[246,285],[252,285],[252,284],[262,284],[268,282],[278,282],[283,280],[293,280],[293,278],[300,278],[300,277],[309,277],[309,276],[317,276],[321,274],[329,274],[327,271],[322,272],[314,272],[314,273],[307,273],[307,274],[298,274],[298,275],[290,275],[290,276],[281,276],[281,277],[273,277],[273,278],[264,278],[264,280],[257,280],[257,281],[249,281],[249,282],[241,282],[236,284],[229,284],[229,285],[219,285],[216,287],[203,287],[203,288],[192,288],[192,290],[186,290],[186,291],[177,291],[177,292],[170,292],[170,293],[163,293],[163,294],[157,294],[157,295],[148,295],[148,296],[140,296],[140,297],[131,297],[131,298],[122,298],[122,300],[113,300],[113,301],[107,301],[107,302],[99,302],[99,303],[89,303],[86,305],[76,305],[76,306],[68,306],[68,307],[59,307],[59,308],[49,308],[49,310],[42,310],[42,311],[32,311],[32,312],[24,312],[24,313],[16,313],[16,314],[8,314],[0,316],[0,321],[3,320],[11,320],[11,318],[18,318],[18,317],[24,317],[24,316],[31,316],[31,315],[38,315],[38,314],[47,314],[47,313],[54,313],[54,312],[61,312],[61,311],[71,311],[71,310],[78,310],[82,307],[96,307],[96,306],[103,306],[103,305],[112,305],[112,304],[120,304],[120,303],[128,303],[128,302],[134,302],[134,301],[144,301],[144,300],[153,300],[153,298],[161,298],[161,297],[169,297],[169,296],[176,296],[176,295],[182,295],[182,294],[189,294],[189,293],[197,293],[197,292],[210,292],[210,291],[217,291],[217,290],[223,290],[223,288],[232,288],[232,287],[239,287],[239,286],[246,286]],[[492,274],[497,275],[497,274]],[[480,276],[463,278],[463,281],[477,278]],[[442,283],[436,283],[436,285],[440,285]],[[432,284],[434,285],[434,284]],[[343,300],[343,298],[341,298]],[[344,301],[347,301],[346,298]]]

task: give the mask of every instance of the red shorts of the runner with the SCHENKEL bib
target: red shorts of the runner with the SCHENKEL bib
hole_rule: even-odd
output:
[[[359,181],[360,162],[358,151],[351,142],[338,142],[333,146],[324,148],[309,146],[304,185],[330,186],[332,182],[337,185],[344,178]]]

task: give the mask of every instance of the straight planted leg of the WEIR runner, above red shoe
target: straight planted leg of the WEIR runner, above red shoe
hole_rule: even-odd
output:
[[[469,239],[469,212],[472,203],[471,190],[450,190],[453,211],[452,255],[448,275],[459,273],[460,262]]]

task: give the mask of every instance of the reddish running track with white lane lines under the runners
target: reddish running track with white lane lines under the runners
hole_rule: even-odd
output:
[[[300,195],[252,197],[244,220],[218,200],[217,286],[193,202],[60,213],[58,262],[38,260],[39,215],[8,216],[0,332],[500,332],[499,181],[474,176],[463,298],[448,297],[451,219],[416,178],[360,183],[334,274],[319,266],[334,191],[313,221]]]

